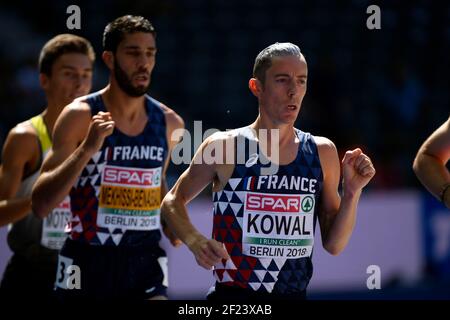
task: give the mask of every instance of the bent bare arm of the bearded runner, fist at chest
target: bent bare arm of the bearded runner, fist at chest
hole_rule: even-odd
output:
[[[33,187],[33,212],[40,217],[48,215],[67,196],[89,159],[114,128],[109,113],[99,112],[91,119],[87,105],[73,104],[63,110],[55,124],[52,151]]]

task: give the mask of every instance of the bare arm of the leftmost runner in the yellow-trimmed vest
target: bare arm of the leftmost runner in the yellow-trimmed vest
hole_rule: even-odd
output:
[[[39,147],[31,128],[18,125],[8,134],[0,166],[0,226],[14,223],[31,211],[31,196],[14,198],[27,166],[38,159]],[[37,163],[37,161],[35,161]],[[37,165],[37,164],[36,164]],[[34,168],[30,168],[30,171]]]

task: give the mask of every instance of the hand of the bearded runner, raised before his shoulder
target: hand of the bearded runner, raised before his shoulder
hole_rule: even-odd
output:
[[[100,111],[92,117],[91,124],[83,145],[88,152],[95,153],[103,145],[103,141],[114,130],[114,121],[109,112]]]

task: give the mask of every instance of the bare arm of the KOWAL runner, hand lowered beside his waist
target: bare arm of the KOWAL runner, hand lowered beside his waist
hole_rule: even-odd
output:
[[[197,263],[205,269],[211,269],[221,259],[229,258],[221,243],[214,239],[207,239],[194,227],[186,209],[189,201],[216,177],[216,165],[205,164],[199,159],[211,140],[207,139],[202,143],[191,165],[180,176],[172,190],[167,193],[161,207],[166,222],[181,241],[189,247]]]

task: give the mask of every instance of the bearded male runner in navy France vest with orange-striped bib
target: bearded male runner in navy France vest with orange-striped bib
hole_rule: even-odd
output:
[[[43,217],[70,191],[72,230],[59,257],[59,297],[165,299],[160,203],[176,143],[169,138],[183,121],[146,94],[156,56],[155,29],[147,19],[115,19],[105,28],[103,46],[109,83],[59,117],[53,151],[33,189],[33,209]]]

